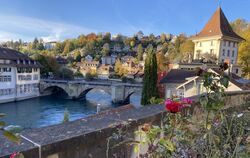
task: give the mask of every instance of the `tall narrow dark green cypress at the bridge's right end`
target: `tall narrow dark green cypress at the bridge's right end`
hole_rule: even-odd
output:
[[[145,61],[143,89],[141,97],[142,105],[150,104],[150,99],[152,97],[159,97],[157,88],[157,61],[152,46],[147,49],[147,54],[148,55]]]

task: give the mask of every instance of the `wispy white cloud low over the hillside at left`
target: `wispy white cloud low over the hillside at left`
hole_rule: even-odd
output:
[[[34,37],[45,41],[71,38],[83,33],[96,32],[96,30],[61,22],[47,21],[37,18],[0,15],[0,41],[9,39],[32,40]]]

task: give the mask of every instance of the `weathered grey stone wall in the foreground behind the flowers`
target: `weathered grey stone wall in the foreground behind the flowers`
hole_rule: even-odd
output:
[[[198,100],[197,97],[193,98]],[[227,107],[246,104],[250,101],[250,92],[230,92],[227,94]],[[199,109],[196,102],[191,112]],[[192,111],[193,110],[193,111]],[[139,109],[131,105],[101,112],[76,121],[53,125],[38,129],[27,129],[21,133],[23,137],[20,145],[9,142],[0,136],[0,157],[8,158],[13,152],[20,151],[25,158],[120,158],[136,157],[132,146],[116,144],[117,139],[109,145],[108,139],[121,129],[134,138],[134,132],[144,123],[159,124],[165,114],[163,105],[145,106]],[[127,124],[126,126],[123,126]],[[125,128],[126,127],[126,128]]]

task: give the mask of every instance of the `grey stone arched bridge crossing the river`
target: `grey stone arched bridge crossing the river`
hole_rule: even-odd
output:
[[[133,93],[141,94],[141,84],[117,83],[107,81],[65,81],[65,80],[41,80],[40,94],[47,95],[61,90],[70,99],[85,99],[91,90],[102,90],[111,95],[113,103],[129,102]]]

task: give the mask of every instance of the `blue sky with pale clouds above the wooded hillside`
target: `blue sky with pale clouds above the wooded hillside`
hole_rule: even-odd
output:
[[[221,0],[229,21],[250,20],[249,0]],[[46,41],[91,32],[199,32],[218,0],[0,0],[0,41]]]

